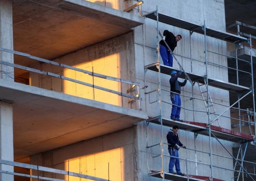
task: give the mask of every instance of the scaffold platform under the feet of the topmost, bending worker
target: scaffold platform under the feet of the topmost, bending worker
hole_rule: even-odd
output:
[[[147,65],[147,66],[145,66],[145,69],[149,69],[149,70],[158,72],[159,62]],[[176,70],[177,72],[180,71],[179,69],[174,69],[172,67],[160,64],[161,73],[170,75],[172,70]],[[191,81],[193,81],[193,82],[198,81],[199,83],[204,83],[205,76],[200,76],[198,74],[191,73],[191,72],[187,72],[187,74],[188,74],[189,78],[191,79]],[[185,74],[183,72],[181,73],[180,78],[183,78],[183,79],[185,78]],[[217,80],[214,78],[208,78],[208,84],[209,84],[209,86],[217,87],[217,88],[224,89],[224,90],[231,91],[231,92],[244,92],[244,91],[250,90],[250,88],[248,88],[248,87],[244,87],[244,86],[237,85],[234,83],[224,82],[224,81]]]

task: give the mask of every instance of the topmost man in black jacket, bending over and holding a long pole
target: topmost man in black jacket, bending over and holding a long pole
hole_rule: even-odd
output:
[[[164,40],[173,52],[174,48],[177,47],[177,42],[180,41],[182,37],[180,34],[174,36],[174,34],[172,32],[169,32],[168,30],[164,30],[163,36],[163,39],[159,42],[160,54],[163,59],[164,65],[172,67],[173,57],[166,44],[164,43]]]

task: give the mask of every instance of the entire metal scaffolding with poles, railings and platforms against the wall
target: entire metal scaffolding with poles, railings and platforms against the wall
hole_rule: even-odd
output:
[[[206,24],[205,24],[205,21],[204,21],[204,25],[201,25],[201,26],[200,25],[195,25],[193,23],[190,23],[190,22],[178,19],[178,18],[173,18],[173,17],[167,16],[167,15],[164,15],[164,14],[160,14],[158,12],[157,8],[156,8],[156,11],[147,13],[144,16],[146,18],[150,18],[150,19],[156,20],[157,34],[159,32],[159,25],[158,25],[159,22],[162,22],[162,23],[165,23],[165,24],[168,24],[168,25],[172,25],[172,26],[176,26],[176,27],[179,27],[179,28],[182,28],[182,29],[186,29],[186,30],[189,31],[189,33],[190,33],[189,39],[190,39],[191,71],[192,71],[192,53],[191,53],[192,52],[192,49],[191,49],[191,41],[192,41],[192,39],[191,39],[191,36],[192,36],[192,34],[194,32],[204,35],[204,54],[205,54],[205,62],[204,63],[205,63],[205,71],[206,71],[206,73],[205,73],[204,76],[195,74],[194,72],[193,73],[192,72],[191,73],[187,72],[187,74],[188,74],[189,78],[191,79],[191,81],[193,82],[193,84],[192,84],[192,95],[194,95],[193,94],[193,87],[194,87],[195,83],[198,83],[199,86],[205,84],[205,86],[206,86],[206,91],[205,92],[207,93],[207,98],[204,98],[204,96],[202,94],[203,91],[201,91],[201,90],[200,90],[200,92],[202,94],[202,99],[196,98],[196,97],[193,97],[193,96],[190,97],[190,96],[186,96],[186,95],[182,95],[182,94],[180,94],[180,95],[188,97],[188,98],[190,98],[190,100],[193,101],[193,109],[187,109],[187,108],[181,107],[182,109],[192,111],[193,115],[196,112],[204,112],[204,113],[206,113],[208,115],[208,123],[196,123],[196,122],[190,122],[190,121],[178,122],[178,121],[173,121],[172,119],[166,119],[166,118],[163,117],[163,114],[162,114],[162,103],[167,103],[167,104],[170,104],[170,105],[172,105],[172,104],[167,102],[167,101],[162,100],[163,99],[161,97],[162,91],[167,91],[167,92],[171,92],[171,93],[173,93],[173,92],[165,90],[165,89],[162,88],[162,86],[161,86],[161,74],[170,75],[170,72],[172,70],[178,70],[178,69],[175,69],[175,68],[168,67],[168,66],[160,64],[160,61],[159,61],[159,51],[158,51],[158,61],[156,63],[150,64],[150,65],[147,65],[147,66],[144,67],[144,69],[145,69],[145,71],[144,71],[145,72],[145,75],[144,75],[145,80],[144,81],[146,83],[146,73],[147,73],[147,70],[152,70],[152,71],[158,72],[158,84],[159,84],[158,89],[156,89],[154,91],[146,92],[145,94],[148,94],[149,103],[154,103],[154,102],[157,102],[158,100],[156,99],[155,101],[150,101],[150,94],[152,94],[153,92],[156,92],[156,93],[158,92],[158,96],[159,96],[158,97],[159,98],[159,115],[154,117],[154,118],[148,119],[147,123],[151,122],[151,123],[155,123],[155,124],[160,124],[161,125],[161,142],[159,144],[155,144],[155,145],[148,145],[148,141],[147,141],[147,149],[150,149],[151,152],[152,152],[152,149],[155,146],[160,145],[161,153],[159,155],[152,155],[152,153],[151,153],[151,156],[152,157],[161,156],[162,168],[161,168],[161,170],[157,170],[157,171],[152,171],[151,170],[150,173],[148,174],[148,176],[159,177],[159,178],[162,178],[163,180],[165,180],[165,179],[167,179],[167,180],[173,180],[173,179],[174,180],[200,180],[200,179],[203,179],[203,177],[201,177],[201,176],[193,177],[193,176],[188,174],[188,166],[187,166],[187,164],[188,164],[188,162],[192,162],[192,163],[196,163],[196,175],[197,175],[197,164],[203,164],[203,165],[209,166],[210,167],[210,177],[208,177],[208,178],[210,180],[213,180],[213,177],[214,177],[214,173],[213,173],[213,170],[212,170],[213,167],[221,168],[221,169],[226,169],[226,170],[230,170],[230,171],[233,171],[233,172],[238,172],[239,175],[242,174],[242,180],[244,180],[244,173],[245,173],[246,176],[248,176],[252,180],[254,180],[252,178],[252,176],[256,176],[256,174],[255,173],[248,173],[247,169],[244,168],[244,166],[243,166],[243,163],[245,163],[245,162],[246,163],[252,163],[253,165],[255,165],[255,163],[253,163],[253,162],[248,162],[248,161],[244,160],[244,156],[245,156],[245,153],[246,153],[246,148],[247,148],[248,142],[255,141],[255,137],[256,137],[256,133],[255,133],[256,124],[255,124],[255,102],[254,102],[254,89],[253,89],[252,52],[251,52],[251,55],[250,55],[250,62],[248,62],[246,60],[238,58],[237,57],[237,53],[236,53],[236,57],[232,57],[232,56],[228,56],[228,55],[225,55],[225,54],[219,54],[219,53],[210,51],[207,48],[207,36],[213,37],[213,38],[216,38],[216,39],[220,39],[220,40],[224,40],[224,41],[227,41],[227,42],[230,42],[230,43],[233,43],[233,44],[235,44],[236,50],[237,50],[238,45],[240,43],[242,43],[242,42],[245,42],[245,41],[249,42],[250,48],[252,48],[252,44],[251,44],[252,43],[252,41],[251,41],[252,37],[251,37],[251,35],[250,35],[249,38],[244,38],[244,37],[239,36],[239,35],[234,35],[234,34],[231,34],[231,33],[226,33],[226,32],[221,32],[221,31],[218,31],[218,30],[214,30],[214,29],[211,29],[211,28],[207,27]],[[158,47],[158,50],[159,50],[159,35],[157,35],[157,42],[158,42],[157,47]],[[209,62],[208,61],[208,53],[213,53],[213,54],[225,56],[225,57],[228,57],[228,58],[236,59],[236,69],[231,68],[231,67],[227,67],[227,66],[223,66],[223,65],[218,65],[218,64],[216,64],[214,62]],[[237,63],[238,60],[239,61],[243,61],[245,63],[248,63],[248,65],[251,67],[251,71],[250,72],[246,72],[246,71],[243,71],[243,70],[239,70],[238,69],[238,63]],[[227,68],[227,69],[235,70],[236,71],[236,79],[237,79],[236,83],[224,82],[224,81],[217,80],[217,79],[209,77],[209,75],[208,75],[208,65],[218,65],[220,67],[224,67],[224,68]],[[249,76],[251,76],[251,82],[252,82],[252,86],[251,87],[246,87],[246,86],[239,85],[239,82],[238,82],[238,72],[243,72],[243,73],[248,74]],[[186,73],[184,74],[184,72],[183,72],[181,74],[180,78],[185,78],[185,76],[186,76]],[[216,87],[216,88],[223,89],[223,90],[227,90],[227,91],[231,91],[231,92],[235,92],[235,93],[237,93],[238,99],[237,99],[237,101],[234,104],[232,104],[230,106],[213,102],[212,98],[210,97],[210,94],[209,94],[209,86]],[[243,96],[242,96],[242,94],[243,94]],[[241,109],[240,108],[240,101],[243,100],[248,95],[251,95],[251,94],[252,94],[252,97],[253,97],[253,99],[252,99],[253,100],[252,101],[253,110],[249,111],[248,109],[247,110]],[[195,99],[204,101],[205,107],[206,107],[206,111],[201,111],[201,110],[195,110],[194,109],[194,100]],[[213,106],[213,104],[214,105],[226,106],[225,111],[223,111],[220,114],[217,114],[215,112],[215,110],[211,112],[210,111],[210,107]],[[234,107],[234,105],[236,105],[236,104],[238,104],[238,107]],[[233,130],[228,130],[228,129],[225,129],[225,128],[221,128],[221,127],[217,127],[217,126],[213,126],[212,125],[215,121],[218,121],[218,119],[220,117],[234,119],[234,118],[227,117],[227,116],[223,115],[225,112],[227,112],[231,108],[232,109],[236,109],[239,112],[239,119],[235,119],[235,120],[239,121],[239,127],[240,127],[239,132],[236,132],[236,131],[233,131]],[[252,115],[251,117],[253,117],[254,122],[249,121],[249,120],[245,121],[244,119],[241,120],[240,111],[246,111],[246,112],[248,112],[248,114]],[[215,116],[214,119],[211,119],[211,115]],[[249,135],[249,134],[241,133],[241,124],[248,125],[249,128],[250,128],[250,131],[251,131],[251,125],[253,125],[253,127],[254,127],[254,135]],[[169,155],[164,155],[163,145],[166,144],[166,143],[164,143],[164,141],[163,141],[163,126],[172,127],[174,125],[179,126],[180,129],[184,129],[184,130],[187,130],[187,131],[190,131],[190,132],[194,132],[195,149],[189,149],[189,150],[195,151],[195,156],[196,156],[197,152],[202,152],[202,151],[196,150],[196,137],[197,137],[197,134],[203,134],[203,135],[208,135],[209,136],[209,149],[210,149],[210,151],[209,152],[202,152],[202,153],[209,154],[209,156],[210,156],[210,163],[209,164],[208,163],[202,163],[202,162],[199,163],[199,162],[197,162],[197,160],[193,161],[193,160],[188,160],[188,159],[180,158],[181,160],[185,160],[185,162],[186,162],[186,168],[187,168],[186,169],[186,172],[187,172],[186,176],[173,175],[173,174],[170,174],[170,173],[164,171],[164,156],[167,156],[168,158],[170,158],[170,156]],[[147,126],[146,126],[146,135],[147,135]],[[211,137],[215,138],[220,143],[220,145],[223,146],[223,148],[228,152],[228,154],[231,157],[213,154],[212,153],[212,139],[211,139]],[[240,143],[240,147],[239,147],[238,154],[237,154],[236,158],[228,151],[228,149],[225,147],[225,145],[223,145],[219,141],[219,139]],[[244,144],[246,144],[246,146],[245,146],[244,151],[242,151],[242,147],[243,147]],[[213,165],[213,163],[212,163],[212,156],[213,155],[214,156],[225,157],[225,158],[228,158],[228,159],[233,159],[235,161],[234,169],[231,170],[231,169],[219,167],[217,165]],[[238,159],[239,155],[241,155],[241,159]],[[236,169],[236,165],[239,166],[239,170],[235,170]],[[239,175],[238,175],[237,180],[239,179]]]

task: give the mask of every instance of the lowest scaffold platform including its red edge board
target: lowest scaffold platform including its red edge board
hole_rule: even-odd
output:
[[[198,176],[198,175],[185,175],[185,176],[180,176],[180,175],[176,175],[176,174],[172,174],[169,172],[163,172],[161,171],[154,171],[154,170],[150,170],[150,173],[148,174],[148,176],[152,176],[152,177],[157,177],[157,178],[163,178],[164,175],[164,179],[166,180],[175,180],[175,181],[209,181],[210,177],[205,177],[205,176]],[[213,178],[213,181],[224,181],[224,180],[220,180],[220,179],[216,179]]]

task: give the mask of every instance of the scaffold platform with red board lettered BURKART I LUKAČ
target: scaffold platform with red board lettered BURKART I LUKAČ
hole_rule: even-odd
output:
[[[151,119],[148,119],[148,122],[161,124],[159,119],[160,118],[158,117],[151,118]],[[180,122],[180,121],[174,121],[172,119],[162,118],[162,124],[168,127],[178,126],[182,130],[195,132],[197,134],[202,134],[207,136],[209,135],[209,131],[206,123],[191,122],[186,120],[184,120],[183,122]],[[253,141],[253,136],[250,134],[244,134],[234,130],[217,127],[213,125],[211,125],[211,132],[218,139],[222,139],[222,140],[227,140],[227,141],[232,141],[237,143]]]

